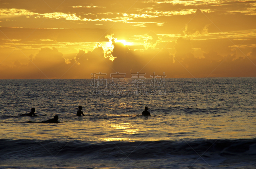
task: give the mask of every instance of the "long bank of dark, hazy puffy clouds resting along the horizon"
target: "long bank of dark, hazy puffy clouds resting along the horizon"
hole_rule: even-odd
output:
[[[62,53],[57,49],[44,48],[35,55],[33,63],[49,78],[57,79],[60,77],[90,78],[91,73],[99,72],[107,73],[108,78],[110,78],[110,73],[115,72],[126,73],[127,78],[131,77],[131,73],[136,72],[146,73],[147,78],[150,78],[150,74],[153,72],[156,72],[156,74],[165,72],[167,77],[256,76],[256,66],[253,64],[256,63],[256,48],[252,48],[252,52],[249,53],[250,60],[247,57],[237,57],[238,50],[225,56],[215,51],[210,51],[203,54],[204,58],[196,58],[193,55],[191,41],[179,38],[175,45],[175,58],[180,60],[178,62],[165,49],[161,51],[154,49],[133,51],[122,43],[113,42],[113,45],[112,55],[115,57],[114,61],[105,58],[104,49],[98,46],[87,53],[80,50],[74,55],[74,59],[69,60],[69,64],[65,63],[67,60],[62,57]],[[47,56],[45,55],[46,53]],[[56,59],[51,61],[52,57],[56,57]],[[43,64],[45,62],[49,64]],[[12,67],[1,65],[0,78],[46,78],[33,63],[21,64],[19,61],[15,61]]]

